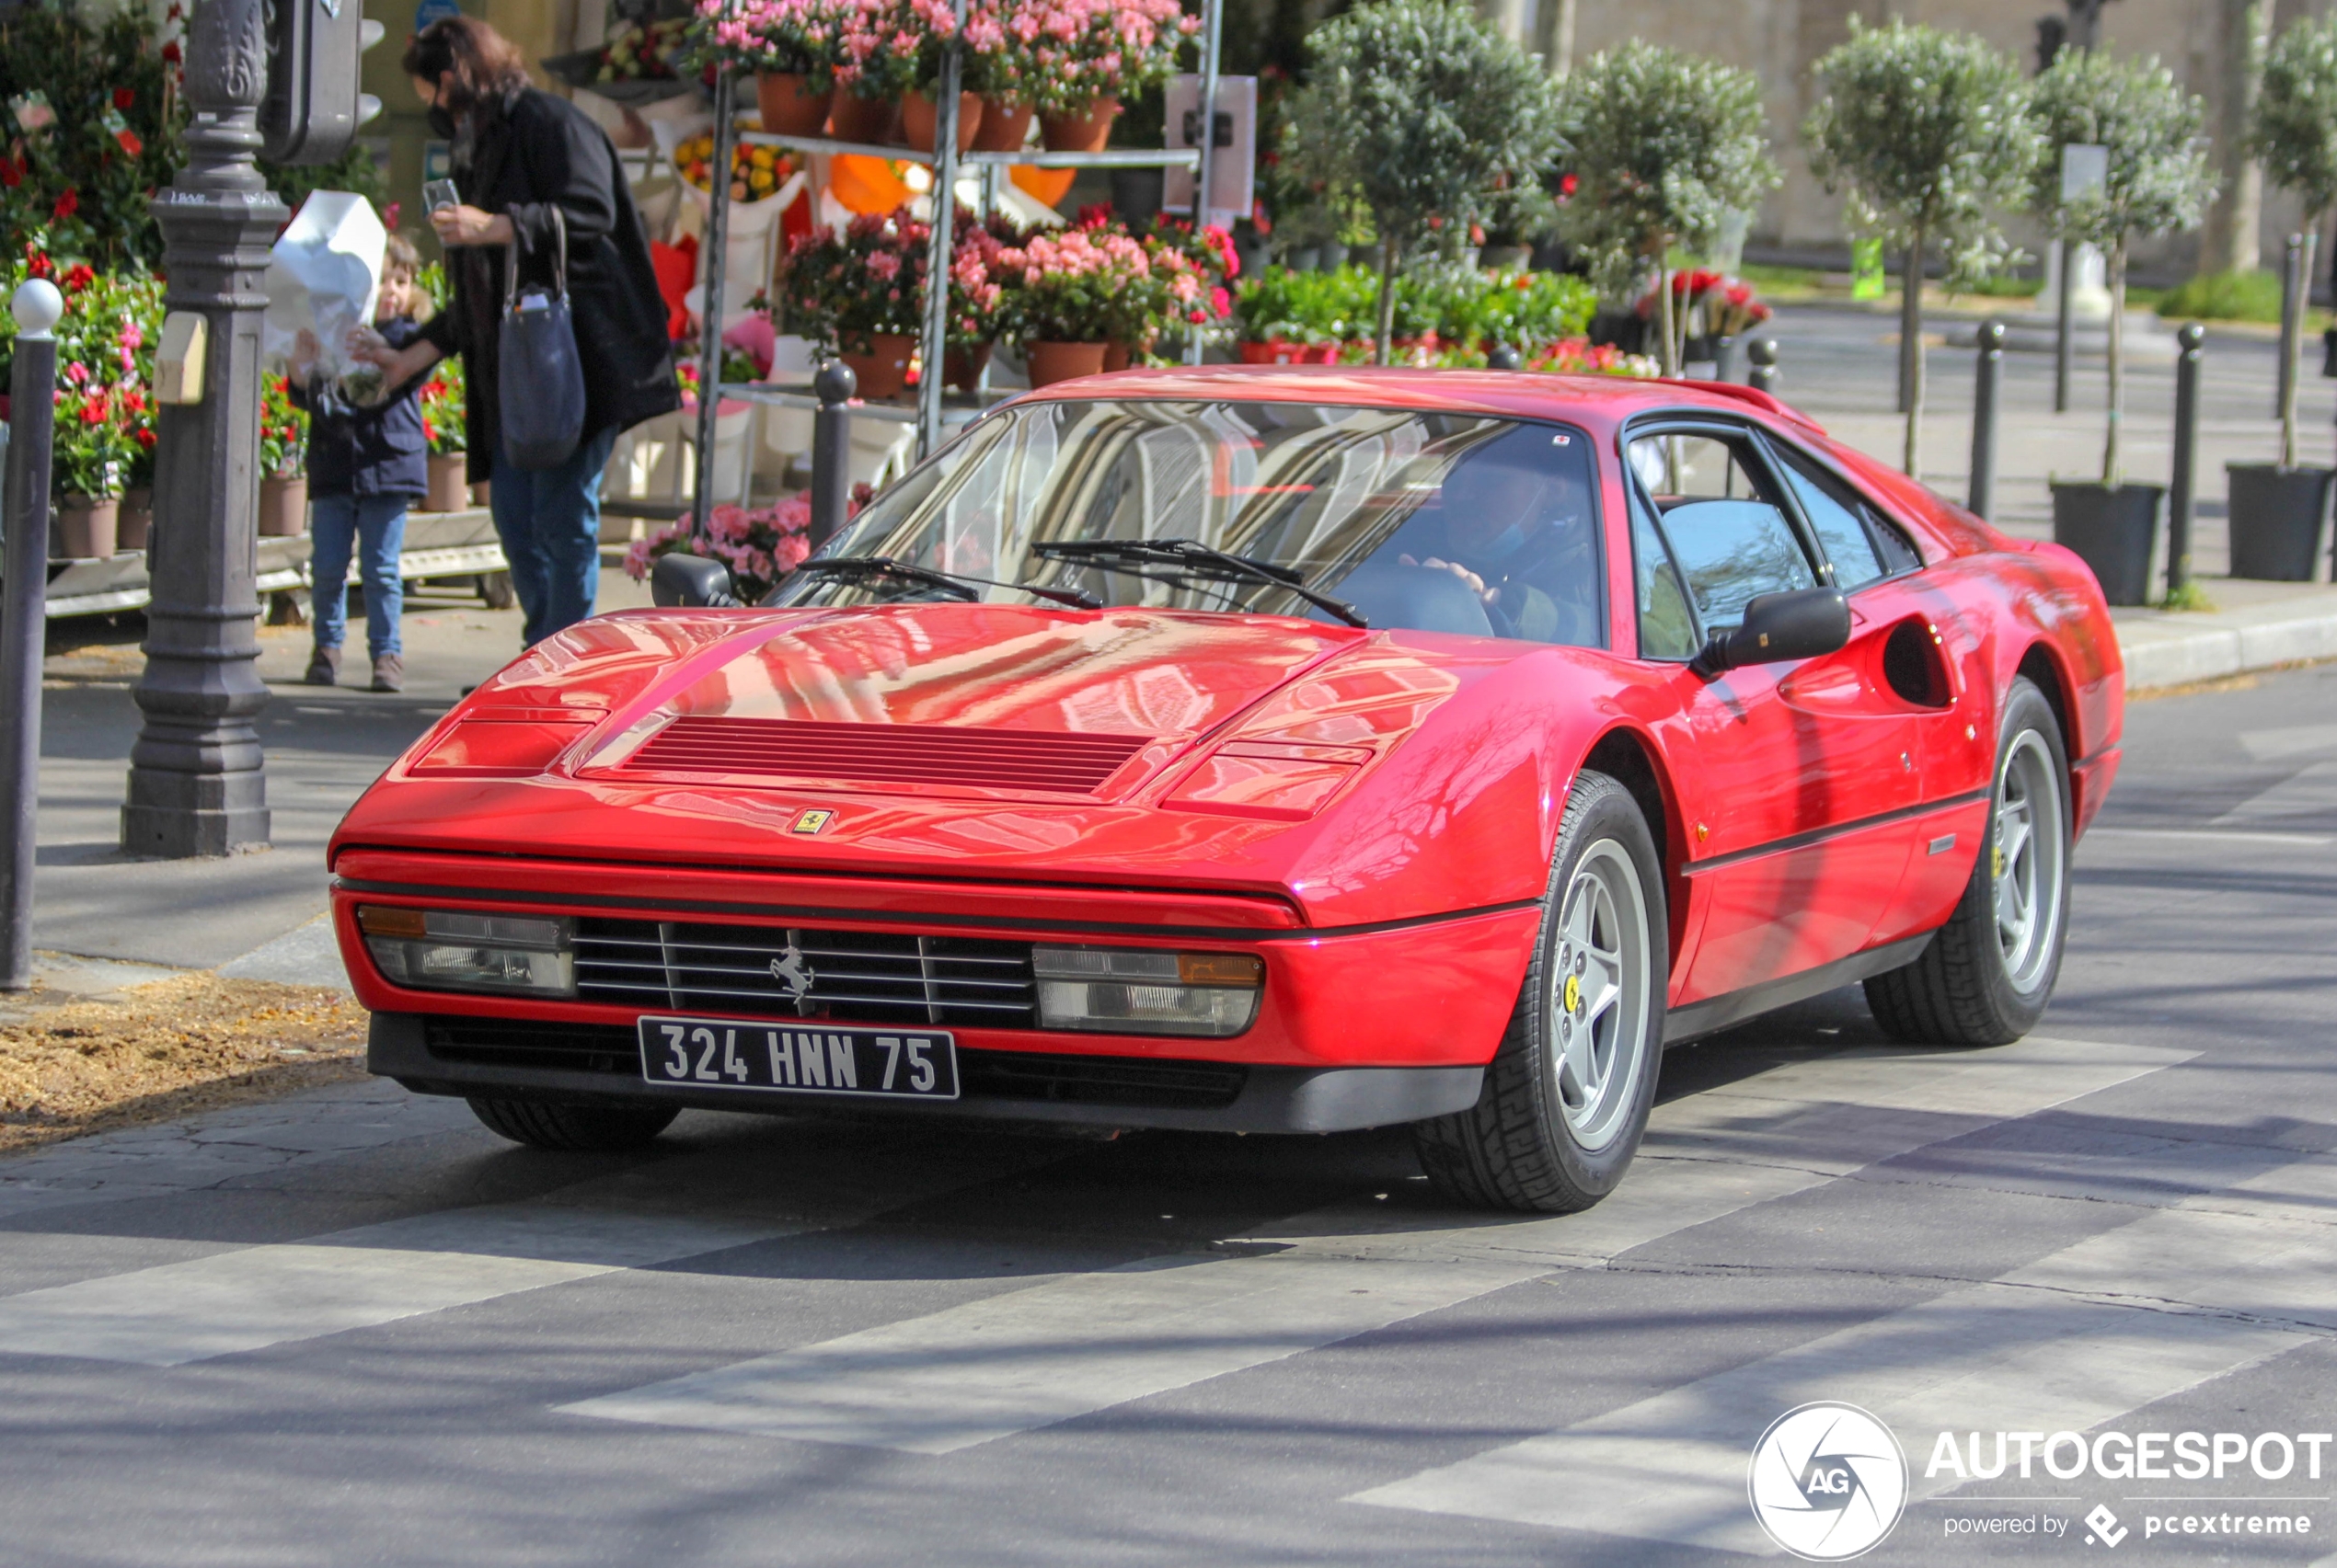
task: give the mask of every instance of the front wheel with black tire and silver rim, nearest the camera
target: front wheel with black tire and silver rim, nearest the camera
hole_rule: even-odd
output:
[[[1620,855],[1617,855],[1620,851]],[[1664,874],[1631,792],[1606,773],[1584,771],[1566,799],[1559,825],[1559,848],[1549,858],[1549,886],[1542,893],[1542,932],[1526,965],[1526,984],[1510,1014],[1510,1028],[1484,1073],[1484,1091],[1470,1110],[1430,1122],[1416,1122],[1412,1145],[1421,1168],[1444,1196],[1477,1208],[1512,1208],[1533,1213],[1577,1213],[1615,1192],[1622,1173],[1648,1131],[1655,1105],[1657,1066],[1664,1054],[1664,993],[1671,972],[1671,942],[1664,916]],[[1594,862],[1584,872],[1584,862]],[[1629,867],[1631,876],[1624,876]],[[1638,960],[1629,960],[1629,935],[1617,942],[1617,1000],[1610,1035],[1608,1080],[1617,1066],[1622,1082],[1608,1082],[1596,1101],[1596,1115],[1584,1103],[1575,1110],[1568,1084],[1580,1096],[1580,1075],[1568,1042],[1580,1038],[1596,1052],[1596,1031],[1608,1012],[1591,1007],[1580,986],[1584,958],[1566,930],[1568,897],[1582,886],[1577,872],[1617,883],[1636,879]],[[1608,914],[1615,930],[1629,932],[1634,916],[1610,888]],[[1596,949],[1596,937],[1591,939]],[[1561,953],[1573,953],[1561,960]],[[1636,967],[1638,974],[1627,970]],[[1570,984],[1570,977],[1573,984]],[[1580,1024],[1577,1024],[1580,1019]],[[1566,1031],[1566,1038],[1559,1038]]]

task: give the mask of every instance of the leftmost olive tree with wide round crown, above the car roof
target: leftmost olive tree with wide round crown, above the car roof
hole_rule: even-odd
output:
[[[1395,271],[1454,248],[1556,152],[1549,77],[1456,0],[1374,0],[1306,40],[1313,75],[1288,110],[1295,171],[1358,201],[1379,234],[1379,332],[1395,339]]]

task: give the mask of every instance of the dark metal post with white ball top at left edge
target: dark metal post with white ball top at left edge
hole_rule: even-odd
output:
[[[9,301],[16,365],[9,374],[7,556],[0,573],[0,991],[33,984],[33,827],[40,811],[40,657],[49,638],[49,453],[56,439],[56,339],[65,313],[54,283],[33,278]]]

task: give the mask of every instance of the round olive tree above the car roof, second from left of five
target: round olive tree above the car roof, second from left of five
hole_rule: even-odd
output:
[[[1673,245],[1708,250],[1729,213],[1750,213],[1783,178],[1769,161],[1760,77],[1631,40],[1561,82],[1559,136],[1577,180],[1566,236],[1608,299],[1629,299],[1655,271],[1657,360],[1678,376]]]

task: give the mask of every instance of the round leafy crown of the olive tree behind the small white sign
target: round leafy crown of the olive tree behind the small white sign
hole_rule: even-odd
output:
[[[2117,61],[2099,49],[2064,49],[2031,89],[2047,147],[2092,143],[2110,150],[2108,182],[2071,203],[2061,201],[2059,161],[2038,161],[2036,203],[2054,236],[2117,250],[2199,227],[2215,196],[2206,105],[2157,58]]]

